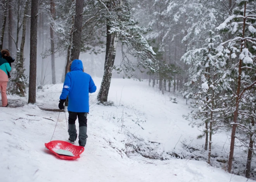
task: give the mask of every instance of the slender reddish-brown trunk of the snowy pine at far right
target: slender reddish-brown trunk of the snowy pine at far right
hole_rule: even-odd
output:
[[[246,16],[246,2],[244,4],[244,16]],[[246,26],[246,19],[244,19],[244,26],[243,26],[243,32],[242,37],[244,38],[244,32],[245,32],[245,26]],[[241,50],[244,47],[244,41],[241,43]],[[237,80],[237,97],[235,101],[235,111],[234,111],[234,123],[237,123],[238,118],[238,109],[239,109],[239,95],[240,95],[240,88],[241,88],[241,75],[242,75],[242,60],[239,60],[239,75]],[[236,131],[237,125],[233,124],[232,126],[232,133],[231,133],[231,142],[230,142],[230,153],[228,158],[228,172],[231,172],[232,169],[232,163],[233,163],[233,156],[234,156],[234,148],[235,148],[235,131]]]

